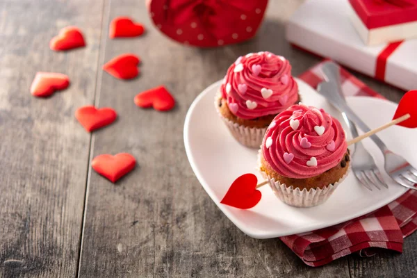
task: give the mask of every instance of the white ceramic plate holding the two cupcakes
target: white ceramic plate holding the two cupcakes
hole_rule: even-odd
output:
[[[389,181],[389,189],[370,191],[361,186],[350,172],[327,202],[313,208],[288,206],[275,197],[269,186],[260,188],[262,198],[254,208],[242,210],[220,204],[231,183],[241,174],[253,173],[259,181],[262,180],[255,170],[257,150],[236,142],[215,111],[213,102],[220,82],[206,88],[190,106],[184,141],[188,160],[203,188],[231,222],[248,236],[275,238],[329,227],[375,211],[407,191],[389,181],[381,152],[372,141],[365,139],[363,144],[374,156],[385,180]],[[304,104],[324,108],[344,124],[340,114],[325,98],[300,79],[297,83]],[[371,128],[389,122],[397,106],[391,101],[371,97],[350,97],[347,102]],[[347,131],[345,125],[343,128]],[[346,134],[349,140],[350,133]],[[411,140],[417,138],[416,130],[392,126],[379,136],[390,149],[404,156],[412,165],[417,165],[417,144]]]

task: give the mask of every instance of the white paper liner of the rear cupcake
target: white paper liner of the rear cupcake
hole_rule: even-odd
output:
[[[251,147],[254,149],[259,149],[259,146],[262,144],[263,136],[265,135],[266,129],[268,127],[256,128],[256,127],[247,127],[224,117],[219,110],[218,100],[219,96],[215,97],[215,108],[218,112],[219,117],[222,119],[224,124],[229,128],[231,135],[238,141],[240,144]]]

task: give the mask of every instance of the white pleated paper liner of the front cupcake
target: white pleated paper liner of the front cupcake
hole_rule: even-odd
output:
[[[261,165],[261,151],[258,155],[258,165]],[[270,188],[275,193],[282,202],[289,204],[290,206],[297,206],[300,208],[308,208],[310,206],[318,206],[329,199],[330,195],[338,187],[338,185],[347,177],[347,174],[350,172],[350,167],[347,169],[346,173],[336,181],[334,184],[329,184],[323,188],[311,188],[310,190],[300,190],[300,188],[294,188],[293,186],[286,186],[285,183],[280,183],[275,181],[274,178],[271,178],[265,172],[261,171],[264,179],[268,179]]]

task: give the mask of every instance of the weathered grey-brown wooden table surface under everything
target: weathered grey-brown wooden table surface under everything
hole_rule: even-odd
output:
[[[165,38],[143,2],[0,0],[0,277],[417,277],[416,234],[402,255],[351,255],[321,268],[304,265],[279,239],[245,236],[188,164],[188,107],[236,57],[272,51],[291,61],[295,76],[319,61],[284,39],[286,19],[302,0],[270,1],[254,40],[218,49]],[[147,34],[108,40],[118,15],[144,23]],[[49,40],[68,25],[83,30],[88,46],[51,51]],[[126,52],[142,58],[138,79],[120,81],[101,70]],[[72,85],[49,99],[32,97],[38,71],[68,74]],[[357,76],[388,99],[402,96]],[[160,84],[177,99],[174,111],[133,104],[138,92]],[[85,132],[74,111],[88,104],[115,108],[117,122]],[[91,170],[93,157],[118,152],[138,161],[119,182]]]

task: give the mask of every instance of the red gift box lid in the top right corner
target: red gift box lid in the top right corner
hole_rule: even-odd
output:
[[[369,29],[417,21],[417,0],[349,0]]]

